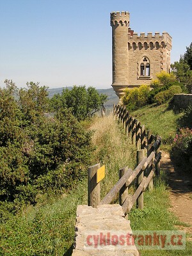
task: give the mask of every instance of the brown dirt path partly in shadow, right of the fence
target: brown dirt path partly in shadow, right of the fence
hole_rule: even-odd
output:
[[[179,229],[192,234],[192,177],[182,172],[170,159],[168,152],[162,152],[161,168],[168,172],[168,186],[170,187],[170,210],[186,225],[179,225]]]

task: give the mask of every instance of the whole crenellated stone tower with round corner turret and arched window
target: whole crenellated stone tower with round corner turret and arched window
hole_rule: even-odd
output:
[[[162,70],[170,72],[172,37],[163,32],[134,33],[129,12],[111,12],[113,89],[118,97],[125,88],[150,84]]]

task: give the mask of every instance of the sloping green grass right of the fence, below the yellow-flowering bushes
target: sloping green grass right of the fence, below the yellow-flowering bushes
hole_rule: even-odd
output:
[[[147,129],[151,129],[154,135],[161,136],[163,144],[168,147],[175,138],[179,120],[184,113],[175,114],[173,109],[168,108],[168,104],[163,104],[160,106],[145,106],[132,111],[131,115],[136,117],[142,125],[145,124]]]

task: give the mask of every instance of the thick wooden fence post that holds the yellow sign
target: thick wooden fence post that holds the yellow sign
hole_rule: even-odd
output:
[[[100,203],[100,182],[97,183],[97,170],[100,163],[88,168],[88,205],[96,208]]]

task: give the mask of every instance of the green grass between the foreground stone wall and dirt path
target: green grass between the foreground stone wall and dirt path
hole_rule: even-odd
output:
[[[154,183],[154,190],[144,193],[144,209],[141,211],[134,207],[129,213],[133,233],[134,230],[177,230],[180,225],[184,227],[185,223],[180,223],[169,211],[169,192],[164,182],[164,173],[161,173],[160,180],[155,180]],[[141,250],[140,253],[141,256],[189,256],[192,255],[192,243],[187,238],[186,250]]]

